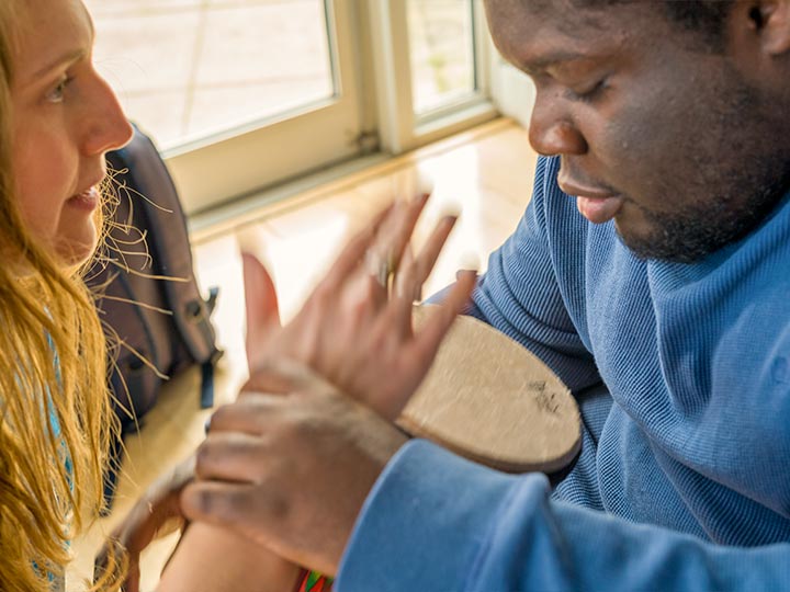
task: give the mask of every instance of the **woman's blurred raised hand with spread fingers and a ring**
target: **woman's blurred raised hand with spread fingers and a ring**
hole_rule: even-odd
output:
[[[454,217],[440,220],[411,255],[409,240],[427,197],[391,206],[353,237],[285,327],[271,277],[255,257],[242,254],[250,368],[244,390],[271,391],[259,371],[293,358],[383,417],[398,417],[475,283],[474,272],[460,273],[443,307],[414,332],[414,300],[455,224]]]

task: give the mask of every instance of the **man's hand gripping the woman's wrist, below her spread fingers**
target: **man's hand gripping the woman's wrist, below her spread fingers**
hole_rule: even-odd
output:
[[[334,574],[365,497],[406,437],[294,362],[259,367],[282,395],[214,413],[181,504],[302,566]]]

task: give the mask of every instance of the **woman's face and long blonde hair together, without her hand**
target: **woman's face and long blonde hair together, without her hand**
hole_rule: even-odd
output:
[[[132,130],[93,70],[92,35],[76,1],[0,3],[4,590],[57,589],[69,539],[97,515],[115,429],[104,338],[77,272],[98,242],[104,153]]]

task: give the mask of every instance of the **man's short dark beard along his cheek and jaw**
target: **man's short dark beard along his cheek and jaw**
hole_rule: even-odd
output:
[[[682,205],[672,212],[642,207],[651,228],[645,235],[618,229],[641,259],[700,261],[753,231],[790,191],[788,129],[772,117],[783,103],[768,101],[732,68],[723,77],[701,132],[678,140],[687,155],[685,182],[668,172],[661,190]]]

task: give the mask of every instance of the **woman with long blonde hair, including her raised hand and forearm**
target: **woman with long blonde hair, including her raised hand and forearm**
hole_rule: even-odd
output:
[[[0,2],[3,590],[63,588],[69,540],[97,515],[108,439],[116,429],[105,387],[104,338],[79,271],[101,236],[99,185],[105,177],[104,155],[127,143],[132,129],[116,98],[93,69],[92,43],[92,23],[80,0]],[[261,288],[255,293],[268,298],[268,304],[249,309],[250,388],[261,388],[255,384],[256,367],[271,358],[294,357],[381,413],[394,417],[392,401],[397,397],[373,399],[369,394],[381,395],[371,386],[379,386],[382,365],[403,360],[398,354],[371,363],[364,355],[352,355],[371,351],[358,335],[384,335],[393,352],[404,355],[416,351],[407,344],[419,345],[421,362],[413,363],[399,386],[395,385],[396,391],[410,392],[472,286],[471,280],[460,282],[450,298],[453,306],[437,318],[431,330],[418,335],[405,330],[410,328],[413,295],[452,228],[453,220],[447,219],[425,252],[405,266],[395,285],[398,297],[392,299],[393,306],[387,305],[391,272],[422,205],[424,201],[417,201],[396,207],[359,235],[302,314],[284,329],[276,329],[268,277],[248,262],[256,287]],[[366,252],[377,254],[364,257]],[[346,330],[342,342],[337,340],[338,328]],[[173,496],[168,482],[182,481],[166,481],[163,491],[153,492],[138,504],[137,509],[144,510],[142,517],[133,512],[120,530],[121,550],[129,551],[133,563],[170,515],[172,505],[167,501]],[[155,504],[150,512],[151,500],[161,502],[165,510],[159,512]],[[282,582],[295,578],[297,568],[271,551],[196,526],[176,554],[167,581],[184,590],[195,589],[189,587],[189,578],[207,584],[211,580],[199,578],[207,565],[201,559],[228,550],[237,551],[239,561],[232,562],[233,569],[214,581],[216,589],[250,590],[249,581],[261,580],[282,589]],[[120,581],[117,558],[117,554],[109,554],[94,589],[112,589]]]

